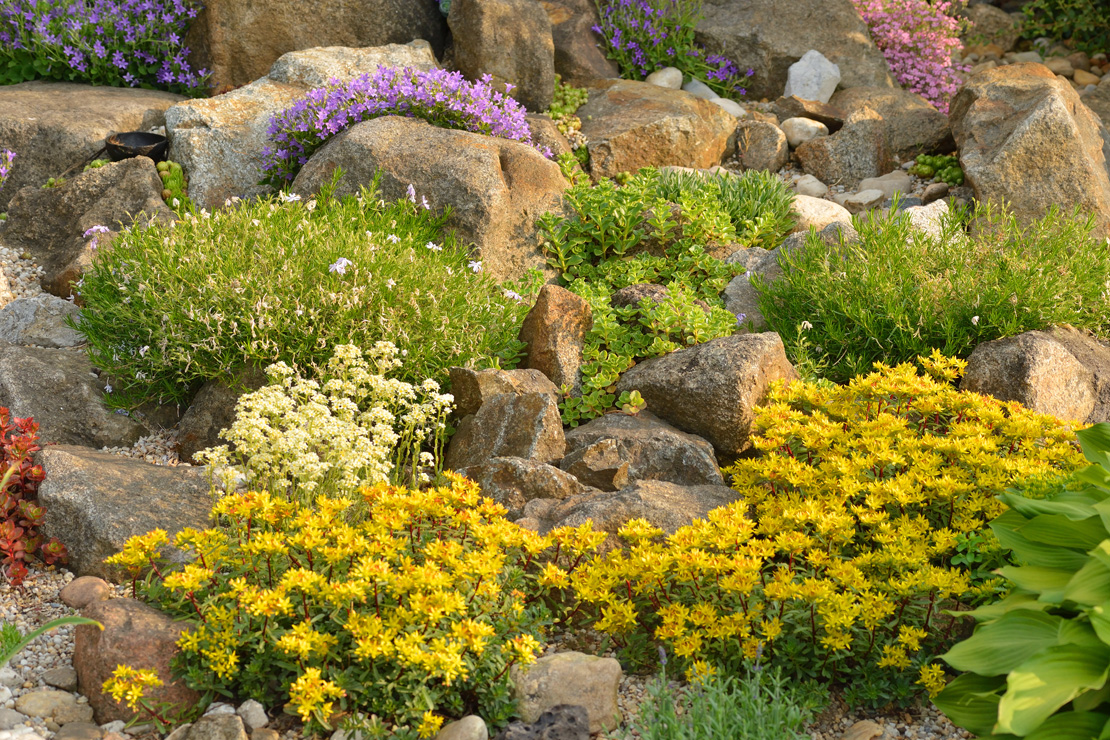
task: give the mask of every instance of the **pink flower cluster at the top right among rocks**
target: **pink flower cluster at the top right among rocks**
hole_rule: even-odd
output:
[[[852,0],[871,31],[871,39],[886,57],[895,79],[909,90],[948,112],[948,101],[959,89],[968,68],[952,61],[962,49],[960,21],[955,11],[960,0]]]

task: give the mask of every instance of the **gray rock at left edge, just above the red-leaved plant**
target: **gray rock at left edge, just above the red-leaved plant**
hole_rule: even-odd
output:
[[[31,416],[43,442],[130,447],[144,429],[104,407],[104,379],[80,349],[0,345],[0,406]]]

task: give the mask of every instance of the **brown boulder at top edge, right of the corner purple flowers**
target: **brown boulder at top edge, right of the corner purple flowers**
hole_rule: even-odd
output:
[[[443,51],[447,24],[436,0],[205,0],[185,43],[196,68],[212,70],[215,88],[266,74],[284,53],[317,47],[382,47],[424,39]],[[364,70],[367,71],[367,70]]]

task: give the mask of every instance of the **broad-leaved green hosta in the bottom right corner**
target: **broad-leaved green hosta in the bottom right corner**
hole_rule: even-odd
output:
[[[1077,436],[1081,488],[999,497],[1009,510],[990,526],[1019,564],[999,570],[1012,590],[941,656],[963,675],[935,701],[980,737],[1110,736],[1110,425]]]

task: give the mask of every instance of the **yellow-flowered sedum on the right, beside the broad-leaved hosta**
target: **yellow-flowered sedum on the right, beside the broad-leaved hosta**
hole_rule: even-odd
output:
[[[935,688],[958,631],[946,609],[998,590],[957,562],[960,536],[986,531],[1007,487],[1081,460],[1057,419],[957,391],[959,361],[921,363],[935,377],[779,384],[756,410],[759,456],[725,470],[740,500],[665,540],[629,521],[626,550],[566,577],[581,612],[629,658],[654,640],[729,672],[763,659],[854,707]]]

